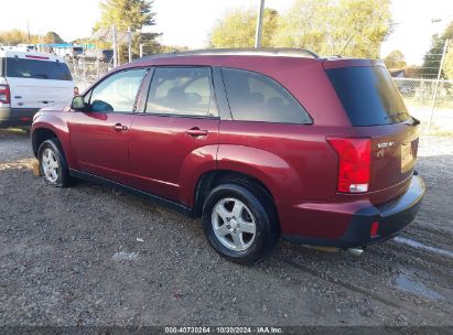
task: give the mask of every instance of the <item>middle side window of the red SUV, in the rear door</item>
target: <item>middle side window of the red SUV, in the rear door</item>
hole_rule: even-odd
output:
[[[145,112],[216,116],[209,67],[155,67]]]

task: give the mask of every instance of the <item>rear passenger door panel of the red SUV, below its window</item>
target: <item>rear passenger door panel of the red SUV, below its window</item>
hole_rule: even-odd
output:
[[[185,179],[196,180],[199,172],[216,169],[218,125],[218,119],[137,116],[129,142],[131,185],[192,205],[194,188],[186,188]],[[186,133],[193,128],[206,130],[207,136]]]

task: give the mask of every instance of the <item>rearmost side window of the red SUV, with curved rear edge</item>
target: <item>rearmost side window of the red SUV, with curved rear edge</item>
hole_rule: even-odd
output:
[[[312,123],[305,109],[272,78],[226,67],[222,75],[234,120]]]

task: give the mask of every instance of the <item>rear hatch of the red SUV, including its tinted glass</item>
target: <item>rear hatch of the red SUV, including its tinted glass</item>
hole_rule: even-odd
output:
[[[419,121],[409,115],[387,68],[380,62],[343,60],[326,61],[324,68],[355,133],[370,138],[368,192],[408,183],[416,165]]]

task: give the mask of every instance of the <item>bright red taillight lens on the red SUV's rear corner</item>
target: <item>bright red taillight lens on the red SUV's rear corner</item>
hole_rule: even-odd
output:
[[[328,137],[338,154],[338,192],[368,192],[371,170],[371,140]]]

